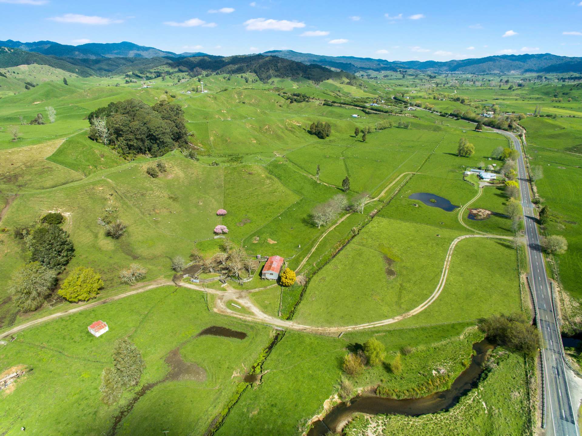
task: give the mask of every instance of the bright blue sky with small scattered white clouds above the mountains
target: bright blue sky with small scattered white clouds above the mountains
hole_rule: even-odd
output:
[[[582,56],[580,0],[0,0],[0,16],[0,40],[131,41],[178,53],[292,49],[391,61]]]

